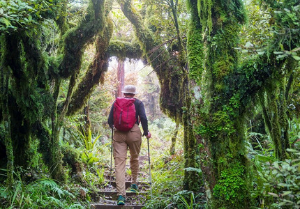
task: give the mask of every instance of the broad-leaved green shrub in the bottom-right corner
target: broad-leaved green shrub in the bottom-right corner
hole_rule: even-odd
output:
[[[287,149],[292,159],[257,156],[253,197],[264,208],[300,208],[300,149]]]

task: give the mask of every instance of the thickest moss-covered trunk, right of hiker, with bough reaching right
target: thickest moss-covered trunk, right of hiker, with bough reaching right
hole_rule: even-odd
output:
[[[287,2],[283,6],[290,6]],[[239,44],[240,24],[246,19],[242,1],[191,0],[189,6],[192,20],[199,15],[199,19],[195,19],[198,24],[190,24],[189,40],[200,40],[192,31],[200,26],[203,40],[197,45],[198,48],[204,46],[205,52],[205,56],[201,53],[197,56],[197,47],[188,47],[190,65],[196,72],[193,77],[197,83],[202,77],[209,82],[204,89],[205,101],[200,104],[205,110],[196,113],[200,116],[198,120],[202,120],[196,121],[197,138],[204,139],[203,144],[209,146],[209,150],[203,149],[211,161],[203,172],[213,192],[209,202],[213,208],[250,208],[250,166],[244,146],[246,110],[250,109],[250,101],[259,91],[278,80],[284,70],[289,70],[285,69],[288,68],[287,59],[277,59],[273,55],[272,50],[279,49],[278,40],[285,42],[286,49],[293,49],[299,44],[299,36],[295,35],[290,42],[275,33],[270,40],[273,48],[266,52],[271,55],[251,57],[241,64],[239,52],[234,48]],[[277,24],[286,26],[281,20],[277,17]],[[195,67],[197,61],[201,66],[203,63],[205,70]],[[197,72],[200,73],[198,78]]]

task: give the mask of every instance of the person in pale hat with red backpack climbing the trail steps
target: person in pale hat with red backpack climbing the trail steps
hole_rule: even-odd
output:
[[[126,85],[121,92],[124,94],[124,98],[117,98],[114,101],[107,120],[114,130],[112,146],[114,148],[114,167],[118,192],[117,205],[124,205],[126,201],[125,167],[128,148],[131,169],[130,191],[137,192],[137,175],[140,169],[139,155],[142,144],[142,132],[138,126],[139,123],[142,123],[143,136],[148,139],[151,137],[144,104],[141,100],[134,98],[135,86]]]

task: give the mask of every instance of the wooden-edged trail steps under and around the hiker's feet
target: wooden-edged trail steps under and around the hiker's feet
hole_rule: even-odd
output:
[[[116,182],[114,181],[114,172],[112,173],[112,178],[110,178],[110,171],[105,173],[105,183],[104,187],[100,188],[100,191],[97,192],[97,195],[100,196],[96,203],[93,203],[93,208],[96,209],[105,209],[105,208],[126,208],[126,209],[139,209],[144,207],[144,203],[147,200],[147,194],[150,189],[149,183],[149,164],[145,163],[148,161],[148,156],[140,156],[140,180],[137,183],[138,192],[130,192],[130,176],[126,172],[126,204],[125,206],[117,206],[117,189]],[[126,164],[126,169],[129,169],[129,165]]]

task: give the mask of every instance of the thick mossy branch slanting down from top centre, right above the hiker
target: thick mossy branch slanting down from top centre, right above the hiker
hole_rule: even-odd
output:
[[[160,107],[171,118],[181,120],[183,98],[179,84],[182,82],[182,71],[178,67],[177,61],[174,62],[165,47],[157,47],[163,41],[154,36],[152,31],[144,24],[142,17],[137,13],[131,1],[120,0],[119,3],[124,15],[134,26],[135,35],[140,42],[144,56],[147,57],[148,62],[151,63],[158,75],[161,87]]]

